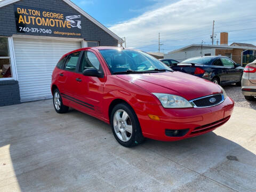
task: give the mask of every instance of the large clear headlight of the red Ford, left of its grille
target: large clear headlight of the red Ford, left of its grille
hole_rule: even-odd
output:
[[[178,95],[166,94],[166,93],[152,93],[162,103],[164,108],[188,108],[193,107],[187,99],[184,99]]]

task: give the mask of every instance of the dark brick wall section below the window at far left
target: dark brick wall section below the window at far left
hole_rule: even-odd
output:
[[[0,107],[20,103],[18,81],[0,81]]]

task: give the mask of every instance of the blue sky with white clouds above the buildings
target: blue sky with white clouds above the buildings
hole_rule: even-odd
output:
[[[256,45],[255,0],[72,0],[108,27],[126,38],[126,47],[143,51],[170,52],[189,44],[214,44],[220,32],[233,42]]]

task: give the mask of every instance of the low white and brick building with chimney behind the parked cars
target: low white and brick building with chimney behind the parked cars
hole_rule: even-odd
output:
[[[228,45],[228,33],[222,32],[220,33],[220,45],[191,44],[164,54],[164,59],[174,59],[181,62],[192,57],[222,55],[233,59],[236,63],[241,63],[242,54],[245,53],[252,55],[250,60],[255,60],[256,46],[243,43],[242,46],[241,43]],[[243,64],[248,62],[249,60],[244,60]]]

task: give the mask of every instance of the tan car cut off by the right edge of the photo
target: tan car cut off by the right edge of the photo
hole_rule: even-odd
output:
[[[245,99],[256,101],[256,60],[247,64],[244,68],[242,93]]]

